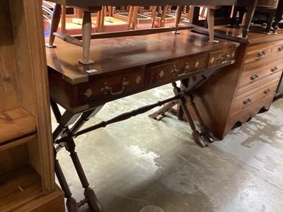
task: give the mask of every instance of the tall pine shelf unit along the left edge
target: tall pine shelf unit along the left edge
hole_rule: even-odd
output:
[[[41,2],[0,1],[0,211],[64,211],[54,179]]]

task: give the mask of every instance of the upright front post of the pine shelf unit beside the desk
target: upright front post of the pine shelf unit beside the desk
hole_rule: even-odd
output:
[[[18,3],[18,0],[16,0]],[[50,114],[50,94],[47,78],[45,40],[42,23],[42,1],[23,0],[28,39],[31,78],[34,85],[35,111],[37,123],[37,145],[29,145],[30,163],[42,177],[42,191],[54,191],[54,153]],[[30,9],[34,8],[34,9]],[[21,9],[18,6],[18,10]],[[36,29],[36,30],[35,30]],[[20,38],[18,38],[20,39]],[[27,75],[28,76],[28,75]],[[30,77],[29,76],[29,77]],[[30,81],[29,81],[30,83]],[[31,154],[33,153],[33,154]]]

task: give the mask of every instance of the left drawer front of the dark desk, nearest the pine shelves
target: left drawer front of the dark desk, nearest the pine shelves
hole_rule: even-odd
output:
[[[121,98],[132,90],[144,87],[144,70],[128,70],[119,75],[109,75],[103,78],[93,76],[88,82],[81,83],[78,88],[78,100],[80,105],[88,104],[92,101],[103,101]]]

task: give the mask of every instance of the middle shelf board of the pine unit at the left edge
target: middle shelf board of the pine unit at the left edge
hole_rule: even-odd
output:
[[[0,143],[31,134],[36,131],[35,117],[17,108],[0,114]]]

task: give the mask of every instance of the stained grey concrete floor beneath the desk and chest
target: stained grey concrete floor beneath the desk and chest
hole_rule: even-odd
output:
[[[110,102],[86,126],[171,96],[167,85]],[[170,112],[159,121],[147,116],[157,109],[76,139],[103,211],[283,211],[283,98],[207,148]],[[69,153],[63,149],[58,158],[80,201]]]

